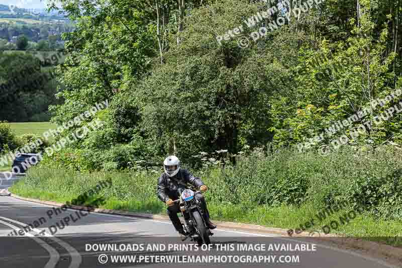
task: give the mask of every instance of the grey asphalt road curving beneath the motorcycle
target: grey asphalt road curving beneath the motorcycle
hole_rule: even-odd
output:
[[[14,178],[15,180],[18,178]],[[12,183],[12,180],[3,181],[0,191]],[[31,224],[32,227],[26,227],[25,231],[21,229],[27,224]],[[13,236],[8,236],[9,234]],[[4,268],[160,267],[161,265],[167,267],[206,265],[306,268],[391,267],[381,260],[320,244],[312,245],[296,238],[221,228],[214,230],[212,248],[204,248],[204,251],[202,248],[195,250],[193,242],[179,240],[169,222],[88,213],[73,209],[57,211],[47,205],[1,195],[1,192],[0,236],[0,263]],[[116,248],[98,249],[97,247],[102,246],[101,244],[110,244]],[[144,248],[141,249],[141,245]],[[149,245],[159,248],[147,248]],[[266,248],[261,248],[264,245]],[[273,249],[269,248],[269,245]],[[287,250],[279,251],[282,245],[287,247]],[[300,250],[303,245],[305,251]],[[187,248],[183,248],[184,246]],[[243,251],[231,250],[232,246],[234,249],[253,246],[254,251],[244,251],[245,248]],[[297,250],[290,251],[291,249]],[[133,259],[126,261],[112,259],[119,255],[130,255]],[[164,259],[157,260],[156,256]],[[173,258],[173,256],[186,256],[187,259],[181,259],[182,263],[157,263],[157,261],[167,261],[168,257]],[[196,256],[199,256],[198,261],[203,263],[185,263],[189,261],[188,258]],[[202,259],[203,256],[204,259]],[[105,264],[101,264],[105,261]],[[206,261],[211,262],[205,263]],[[252,261],[254,262],[245,263]]]

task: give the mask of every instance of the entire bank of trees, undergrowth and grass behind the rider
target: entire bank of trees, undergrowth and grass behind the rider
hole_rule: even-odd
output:
[[[9,66],[0,70],[6,97],[35,103],[21,111],[4,102],[0,118],[51,114],[62,125],[95,103],[110,106],[82,124],[101,120],[102,128],[45,156],[13,186],[16,194],[64,202],[112,177],[113,187],[101,193],[105,207],[164,213],[156,182],[163,159],[175,154],[205,178],[214,219],[296,228],[345,203],[314,229],[361,210],[332,231],[386,243],[402,236],[402,109],[400,96],[385,99],[402,88],[399,2],[60,3],[76,27],[62,36],[67,56],[54,67],[57,98],[47,80],[33,92],[33,80],[14,82],[19,75],[11,67],[35,66],[37,58],[0,54]],[[258,19],[272,6],[273,14]],[[303,12],[285,18],[296,9]],[[250,38],[281,19],[283,25]],[[239,25],[236,36],[218,41]],[[249,42],[240,47],[242,39]],[[14,101],[22,86],[29,93]],[[390,108],[395,113],[386,116]],[[342,123],[351,116],[356,120]],[[356,127],[359,135],[350,135]],[[344,135],[343,146],[331,144]],[[310,148],[298,146],[316,136]]]

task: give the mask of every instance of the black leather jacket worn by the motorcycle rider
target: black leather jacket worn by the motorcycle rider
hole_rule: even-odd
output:
[[[189,186],[199,188],[204,185],[199,177],[194,177],[187,169],[180,168],[176,175],[169,177],[166,173],[162,173],[158,178],[157,194],[162,202],[172,199],[176,200],[183,189]]]

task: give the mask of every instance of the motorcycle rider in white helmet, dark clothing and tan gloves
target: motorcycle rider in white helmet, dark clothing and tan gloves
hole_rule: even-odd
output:
[[[187,169],[180,168],[180,160],[174,155],[166,157],[163,161],[163,169],[165,172],[158,178],[158,198],[168,206],[167,215],[169,215],[176,231],[181,235],[186,235],[177,216],[177,213],[180,212],[179,204],[173,203],[173,200],[179,199],[179,195],[182,191],[188,189],[188,185],[199,188],[201,192],[207,191],[208,188],[199,177],[194,177]],[[210,213],[208,212],[204,196],[198,193],[194,198],[201,202],[201,209],[207,226],[211,230],[215,229],[217,226],[210,221]]]

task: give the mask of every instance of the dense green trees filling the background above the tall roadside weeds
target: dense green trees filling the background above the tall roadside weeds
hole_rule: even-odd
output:
[[[75,168],[130,168],[129,162],[157,163],[172,153],[199,167],[202,161],[193,156],[200,152],[291,147],[402,85],[402,12],[395,2],[313,4],[240,48],[239,40],[259,27],[311,4],[269,3],[279,11],[250,28],[244,21],[266,9],[265,3],[191,1],[182,9],[165,1],[61,1],[77,24],[63,34],[71,53],[57,69],[65,85],[57,97],[65,102],[50,107],[52,121],[62,124],[105,99],[111,104],[102,115],[105,128],[72,146],[96,151],[105,162]],[[238,35],[217,41],[239,25]],[[372,122],[386,108],[371,109],[367,122],[325,134],[319,145]],[[349,145],[400,144],[400,119],[373,126]],[[303,193],[306,182],[290,176]],[[284,184],[276,191],[302,202],[302,194],[289,197]]]

